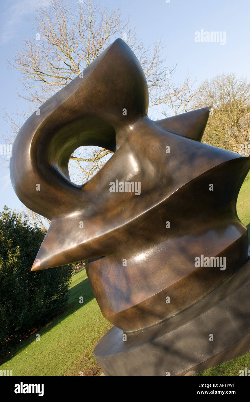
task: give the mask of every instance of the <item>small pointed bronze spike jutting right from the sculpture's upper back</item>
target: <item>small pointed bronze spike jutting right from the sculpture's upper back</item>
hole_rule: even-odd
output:
[[[155,123],[172,133],[201,141],[210,110],[211,106],[203,107],[181,115],[167,117],[167,119],[158,120]]]

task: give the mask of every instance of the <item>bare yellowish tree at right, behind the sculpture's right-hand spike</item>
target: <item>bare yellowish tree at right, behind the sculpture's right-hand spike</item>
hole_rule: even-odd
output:
[[[195,105],[213,108],[204,142],[250,155],[250,82],[246,78],[223,73],[206,80]]]

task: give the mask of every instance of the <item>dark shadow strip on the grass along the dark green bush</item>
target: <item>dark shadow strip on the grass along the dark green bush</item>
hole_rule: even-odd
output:
[[[76,274],[77,275],[77,274]],[[83,304],[79,303],[79,297],[83,296]],[[42,326],[41,328],[37,328],[33,334],[30,335],[28,339],[22,340],[21,345],[10,345],[10,353],[8,353],[5,358],[1,360],[0,365],[6,363],[8,360],[12,359],[12,357],[18,355],[18,353],[22,352],[30,343],[33,343],[35,340],[35,334],[39,331],[40,336],[42,336],[48,330],[51,330],[54,326],[59,324],[59,322],[63,321],[65,318],[69,317],[71,314],[75,313],[79,308],[85,306],[89,301],[94,298],[89,280],[87,278],[83,279],[83,281],[77,283],[77,285],[73,286],[69,289],[69,300],[67,308],[64,312],[53,318],[50,322]]]

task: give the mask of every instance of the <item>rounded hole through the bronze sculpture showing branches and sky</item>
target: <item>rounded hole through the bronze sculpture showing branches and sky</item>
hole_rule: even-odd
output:
[[[69,160],[70,180],[82,185],[91,179],[110,159],[113,152],[97,146],[77,148]]]

